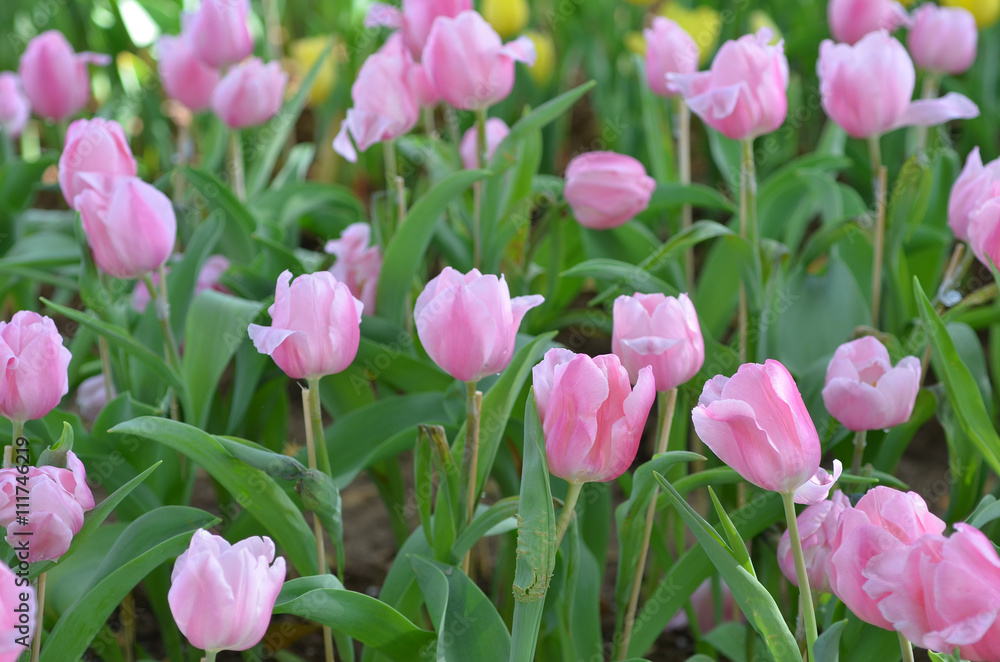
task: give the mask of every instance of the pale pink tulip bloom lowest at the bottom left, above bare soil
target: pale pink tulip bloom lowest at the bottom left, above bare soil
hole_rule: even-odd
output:
[[[192,645],[243,651],[264,638],[284,582],[285,559],[267,536],[230,545],[199,529],[174,563],[167,602]]]

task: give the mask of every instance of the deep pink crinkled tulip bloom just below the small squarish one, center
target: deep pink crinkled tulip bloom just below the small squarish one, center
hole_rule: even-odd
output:
[[[606,482],[635,460],[656,398],[653,369],[633,389],[614,354],[550,349],[532,369],[549,471],[571,483]]]

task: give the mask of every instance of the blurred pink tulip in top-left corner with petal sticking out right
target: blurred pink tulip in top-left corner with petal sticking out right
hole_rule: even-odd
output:
[[[32,110],[61,122],[80,112],[90,100],[87,65],[110,63],[107,55],[75,53],[61,32],[49,30],[28,42],[18,73]]]

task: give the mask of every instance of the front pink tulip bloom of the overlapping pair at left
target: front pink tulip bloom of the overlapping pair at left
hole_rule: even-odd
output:
[[[136,177],[123,178],[110,198],[93,189],[77,198],[94,261],[115,278],[138,278],[167,261],[177,239],[170,198]]]

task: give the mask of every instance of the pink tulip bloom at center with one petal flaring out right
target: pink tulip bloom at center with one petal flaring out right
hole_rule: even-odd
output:
[[[543,301],[537,294],[512,299],[503,276],[445,267],[417,297],[413,320],[435,363],[455,379],[478,382],[507,367],[521,320]]]

